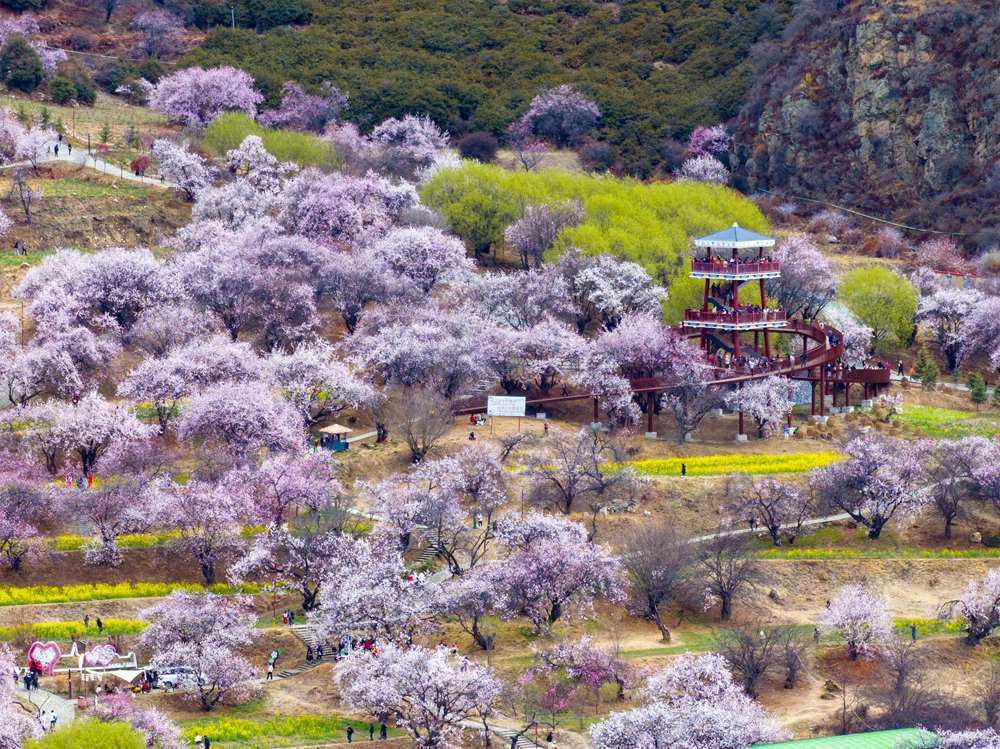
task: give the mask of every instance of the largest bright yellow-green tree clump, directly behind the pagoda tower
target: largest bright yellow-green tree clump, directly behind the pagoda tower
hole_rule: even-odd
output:
[[[669,322],[676,322],[700,299],[702,282],[688,278],[692,237],[734,221],[754,231],[769,229],[757,207],[739,193],[688,180],[643,184],[555,170],[511,172],[466,162],[461,169],[435,174],[421,196],[477,253],[499,245],[504,228],[525,206],[579,200],[584,221],[560,233],[554,254],[574,246],[588,254],[607,252],[639,263],[658,283],[670,287]]]

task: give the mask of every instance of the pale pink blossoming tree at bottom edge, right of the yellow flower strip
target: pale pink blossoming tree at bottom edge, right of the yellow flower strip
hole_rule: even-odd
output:
[[[503,691],[488,666],[447,648],[394,643],[381,645],[377,655],[356,651],[338,666],[336,678],[344,702],[391,717],[420,749],[457,749],[462,722],[488,714]]]

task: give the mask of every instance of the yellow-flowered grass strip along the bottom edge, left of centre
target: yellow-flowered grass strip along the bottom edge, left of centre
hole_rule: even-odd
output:
[[[348,726],[354,726],[357,741],[368,741],[368,723],[317,715],[289,715],[277,718],[220,717],[183,721],[182,736],[192,741],[195,734],[208,736],[212,746],[222,749],[274,749],[284,746],[347,743]],[[375,726],[376,736],[378,725]],[[389,736],[401,736],[397,728]]]

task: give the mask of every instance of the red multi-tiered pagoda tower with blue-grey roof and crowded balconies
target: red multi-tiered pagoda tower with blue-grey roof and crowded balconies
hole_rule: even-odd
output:
[[[774,239],[734,223],[728,229],[695,239],[694,245],[704,254],[692,260],[691,277],[704,279],[705,293],[701,309],[684,313],[684,327],[701,331],[701,346],[706,350],[710,338],[727,348],[725,339],[730,338],[734,357],[740,355],[741,333],[753,331],[755,342],[763,333],[764,350],[758,353],[770,358],[770,331],[788,324],[783,310],[767,307],[765,283],[781,276],[778,263],[764,253],[774,247]],[[740,303],[740,287],[753,281],[760,283],[759,307]]]

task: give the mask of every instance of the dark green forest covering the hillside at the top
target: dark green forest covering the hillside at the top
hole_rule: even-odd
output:
[[[423,112],[455,135],[502,135],[540,88],[572,83],[601,108],[596,137],[646,176],[671,140],[737,114],[791,5],[315,0],[296,6],[304,26],[219,26],[183,62],[242,67],[272,105],[285,80],[328,80],[349,94],[348,117],[362,127]]]

